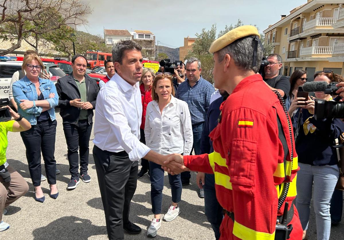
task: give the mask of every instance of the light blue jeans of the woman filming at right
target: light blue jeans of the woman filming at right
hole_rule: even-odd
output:
[[[337,165],[311,166],[299,163],[296,187],[296,208],[298,209],[303,230],[307,230],[312,199],[312,184],[314,185],[313,205],[318,240],[330,238],[331,217],[330,201],[336,186],[339,169]]]

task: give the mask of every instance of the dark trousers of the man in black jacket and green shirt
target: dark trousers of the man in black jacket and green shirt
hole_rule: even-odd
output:
[[[88,170],[89,138],[92,125],[92,123],[88,124],[87,119],[79,120],[77,124],[63,123],[68,149],[69,172],[72,177],[79,177],[78,150],[80,154],[80,172]]]

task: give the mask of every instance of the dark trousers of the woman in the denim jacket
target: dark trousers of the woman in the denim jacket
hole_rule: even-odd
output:
[[[26,148],[29,172],[32,184],[35,187],[41,185],[41,152],[44,160],[44,168],[49,184],[56,184],[55,136],[56,120],[45,120],[32,125],[31,129],[20,132]]]

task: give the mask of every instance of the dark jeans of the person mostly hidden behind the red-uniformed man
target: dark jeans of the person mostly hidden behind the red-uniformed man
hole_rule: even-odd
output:
[[[223,219],[223,208],[216,199],[215,175],[206,173],[204,181],[205,216],[207,216],[209,223],[212,225],[215,238],[218,240],[220,238],[220,225]]]

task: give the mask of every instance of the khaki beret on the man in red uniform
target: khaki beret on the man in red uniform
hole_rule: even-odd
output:
[[[210,53],[217,52],[218,50],[221,50],[224,47],[228,46],[229,44],[233,43],[235,40],[238,40],[240,38],[247,37],[247,36],[254,36],[254,35],[257,35],[258,37],[260,37],[257,28],[254,26],[245,25],[241,27],[236,27],[233,30],[230,30],[225,35],[213,41],[212,45],[209,48],[209,52]]]

